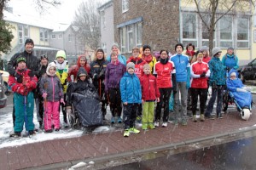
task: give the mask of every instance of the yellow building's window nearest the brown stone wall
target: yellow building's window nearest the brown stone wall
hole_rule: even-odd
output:
[[[192,43],[197,47],[196,14],[183,14],[183,45]]]

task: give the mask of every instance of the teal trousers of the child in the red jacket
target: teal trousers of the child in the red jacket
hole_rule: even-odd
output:
[[[34,130],[33,110],[34,95],[32,92],[26,96],[14,94],[15,101],[15,132],[22,132],[25,123],[26,131]]]

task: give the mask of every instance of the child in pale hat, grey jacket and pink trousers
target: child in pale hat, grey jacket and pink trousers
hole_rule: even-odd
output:
[[[54,62],[49,63],[46,69],[46,77],[43,77],[40,81],[40,90],[44,99],[46,99],[46,105],[44,105],[44,130],[45,133],[51,133],[51,124],[53,123],[55,131],[60,130],[60,100],[64,103],[63,91],[61,88],[61,81],[55,76],[56,65]]]

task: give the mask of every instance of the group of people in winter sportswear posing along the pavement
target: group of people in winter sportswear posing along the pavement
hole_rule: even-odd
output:
[[[44,128],[45,133],[60,130],[61,110],[63,127],[68,127],[67,114],[72,114],[74,102],[72,94],[86,89],[97,92],[96,99],[101,102],[103,119],[109,105],[112,114],[110,122],[124,123],[125,137],[140,132],[135,126],[136,121],[142,122],[143,130],[159,127],[160,123],[162,127],[167,127],[171,94],[176,125],[187,125],[188,99],[191,99],[193,121],[197,122],[198,96],[200,121],[205,121],[205,117],[214,119],[212,110],[216,97],[216,114],[222,118],[227,70],[236,71],[238,68],[234,48],[228,48],[227,54],[220,60],[220,48],[213,48],[210,57],[207,48],[195,52],[191,43],[186,47],[186,54],[183,54],[182,43],[176,44],[176,54],[172,56],[168,50],[160,50],[158,60],[151,54],[149,45],[143,45],[142,54],[139,48],[132,48],[131,57],[126,59],[120,54],[119,45],[113,43],[108,57],[98,48],[90,65],[84,56],[79,56],[77,65],[70,68],[65,51],[58,51],[55,61],[49,63],[47,56],[38,59],[32,54],[33,46],[32,39],[27,39],[25,51],[15,54],[8,64],[9,87],[14,92],[15,104],[15,133],[11,135],[14,137],[20,137],[24,123],[27,133],[35,133],[32,122],[34,99],[39,126]],[[232,72],[230,75],[234,76]],[[207,105],[209,86],[212,87],[212,97]]]

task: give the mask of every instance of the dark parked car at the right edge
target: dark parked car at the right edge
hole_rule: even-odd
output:
[[[246,80],[256,79],[256,59],[253,59],[247,65],[242,65],[238,68],[241,73],[241,81],[246,82]]]

